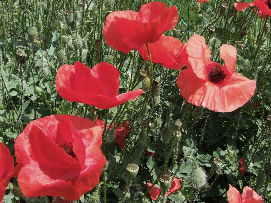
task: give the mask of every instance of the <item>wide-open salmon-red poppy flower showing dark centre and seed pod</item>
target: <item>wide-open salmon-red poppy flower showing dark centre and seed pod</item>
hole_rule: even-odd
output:
[[[220,47],[224,66],[210,61],[211,51],[202,36],[193,35],[187,42],[186,51],[188,69],[181,71],[177,85],[189,103],[216,112],[231,112],[253,96],[256,82],[234,73],[235,47],[227,44]]]

